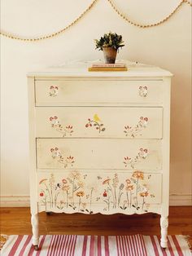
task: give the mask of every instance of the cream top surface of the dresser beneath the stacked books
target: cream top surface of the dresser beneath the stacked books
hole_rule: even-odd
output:
[[[28,73],[28,77],[172,77],[172,73],[163,68],[130,61],[124,61],[128,71],[89,72],[88,68],[93,63],[71,62]]]

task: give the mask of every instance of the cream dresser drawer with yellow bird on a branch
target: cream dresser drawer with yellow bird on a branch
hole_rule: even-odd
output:
[[[162,138],[163,108],[39,107],[37,137]]]

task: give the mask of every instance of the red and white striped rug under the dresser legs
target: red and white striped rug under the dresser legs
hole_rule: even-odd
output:
[[[168,249],[161,249],[159,236],[40,236],[35,251],[32,236],[9,236],[2,256],[191,256],[184,236],[168,236]]]

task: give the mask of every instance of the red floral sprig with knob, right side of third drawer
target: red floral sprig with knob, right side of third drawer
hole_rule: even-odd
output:
[[[147,148],[140,148],[136,157],[124,157],[124,167],[131,167],[134,169],[138,162],[146,159],[148,153],[149,151]]]

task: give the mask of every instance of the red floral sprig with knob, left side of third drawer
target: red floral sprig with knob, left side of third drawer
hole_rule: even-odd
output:
[[[59,161],[59,163],[63,164],[64,168],[67,168],[68,166],[72,166],[72,164],[75,162],[74,157],[63,157],[63,154],[60,152],[59,148],[50,148],[51,157],[55,159],[56,161]]]

